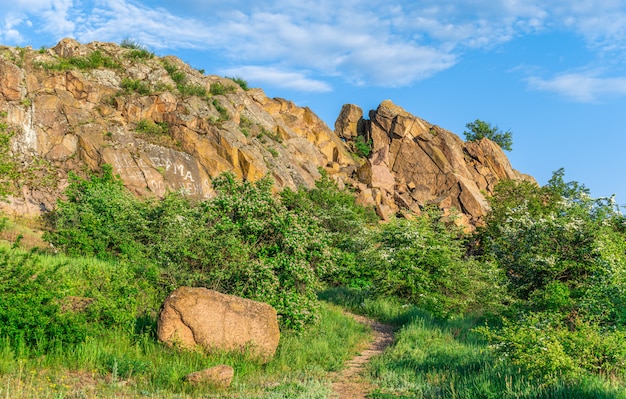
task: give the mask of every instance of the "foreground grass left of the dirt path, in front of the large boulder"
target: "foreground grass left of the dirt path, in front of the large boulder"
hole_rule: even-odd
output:
[[[267,365],[244,355],[179,352],[149,334],[119,330],[105,331],[46,356],[28,352],[17,356],[10,346],[0,343],[0,397],[82,393],[72,397],[325,398],[330,392],[327,373],[353,356],[369,332],[335,307],[325,305],[322,315],[322,323],[307,333],[283,336],[276,357]],[[233,386],[225,392],[193,387],[183,380],[193,371],[217,364],[235,369]],[[77,377],[88,383],[83,381],[81,386]]]

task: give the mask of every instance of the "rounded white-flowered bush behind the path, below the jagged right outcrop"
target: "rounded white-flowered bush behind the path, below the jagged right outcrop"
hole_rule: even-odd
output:
[[[439,317],[480,311],[503,297],[494,264],[464,259],[460,231],[439,210],[399,219],[372,232],[364,261],[376,272],[374,289],[402,298]]]

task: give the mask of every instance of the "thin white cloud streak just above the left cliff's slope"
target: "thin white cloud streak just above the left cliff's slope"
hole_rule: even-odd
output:
[[[285,71],[276,67],[244,66],[224,69],[220,73],[226,76],[244,76],[247,80],[291,90],[332,91],[332,87],[326,82],[308,78],[302,72]]]

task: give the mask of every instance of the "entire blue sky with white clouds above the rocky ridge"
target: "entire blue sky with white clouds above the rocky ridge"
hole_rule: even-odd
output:
[[[626,204],[626,1],[15,0],[0,43],[133,39],[208,74],[309,106],[391,99],[463,137],[513,132],[513,167],[545,184],[563,167]]]

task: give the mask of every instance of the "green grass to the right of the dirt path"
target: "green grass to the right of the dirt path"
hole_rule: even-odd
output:
[[[393,300],[333,289],[321,297],[398,327],[395,344],[374,358],[368,378],[373,399],[391,398],[626,398],[626,386],[600,377],[547,385],[497,358],[473,332],[478,318],[438,320]]]

